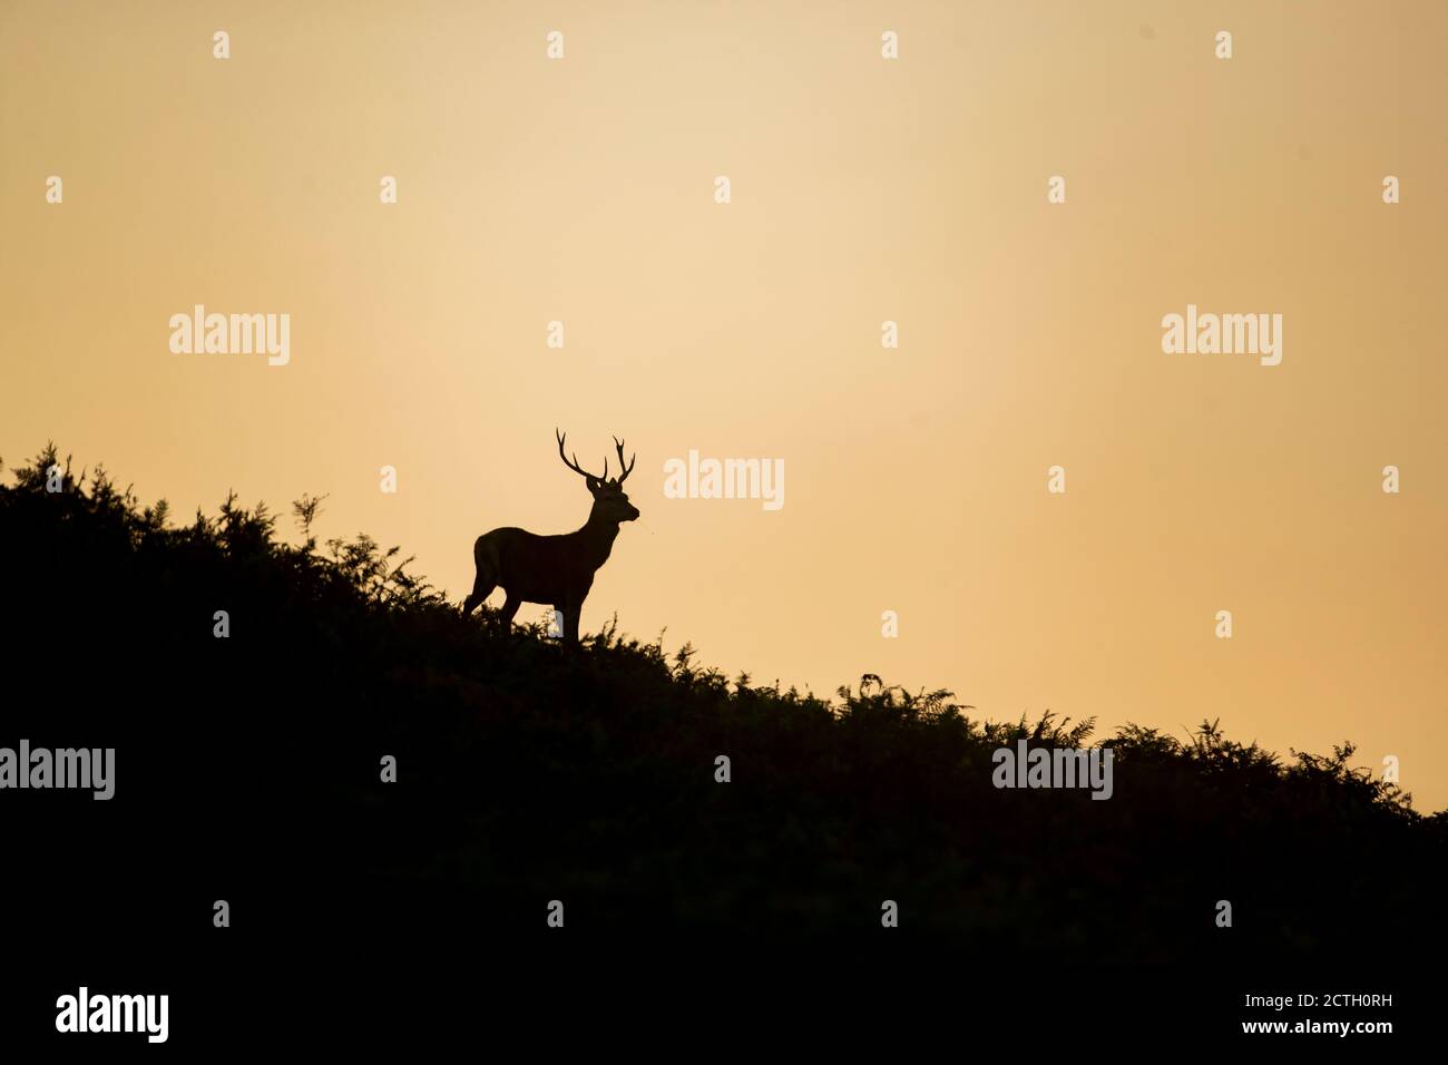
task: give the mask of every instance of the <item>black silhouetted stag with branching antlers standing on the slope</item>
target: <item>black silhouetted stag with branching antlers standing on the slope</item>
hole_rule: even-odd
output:
[[[618,465],[623,472],[608,480],[608,456],[604,456],[604,475],[594,477],[578,465],[578,455],[568,461],[563,454],[566,433],[553,430],[557,438],[557,456],[563,465],[584,477],[584,484],[594,496],[594,509],[588,522],[578,532],[559,536],[539,536],[524,529],[494,529],[484,533],[472,545],[472,558],[478,565],[478,578],[472,582],[472,594],[463,600],[462,616],[502,585],[508,598],[502,604],[502,619],[511,622],[521,603],[543,603],[563,614],[563,639],[578,642],[578,619],[584,613],[584,598],[594,587],[594,574],[608,561],[614,548],[620,522],[633,522],[639,510],[624,494],[623,484],[633,472],[633,462],[624,465],[624,442],[617,436]],[[634,455],[634,459],[639,456]]]

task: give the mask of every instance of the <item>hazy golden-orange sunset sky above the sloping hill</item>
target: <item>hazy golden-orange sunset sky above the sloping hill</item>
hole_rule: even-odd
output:
[[[0,455],[182,520],[327,493],[459,600],[479,533],[586,517],[555,426],[618,435],[586,630],[1352,739],[1442,809],[1445,39],[1436,0],[0,0]],[[195,304],[290,314],[288,365],[172,354]],[[1163,354],[1187,304],[1280,313],[1281,364]],[[666,498],[691,449],[785,504]]]

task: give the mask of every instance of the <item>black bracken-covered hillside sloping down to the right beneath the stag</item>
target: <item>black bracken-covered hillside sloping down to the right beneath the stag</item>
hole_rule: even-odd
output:
[[[46,491],[52,462],[0,488],[0,748],[114,749],[114,795],[0,790],[17,1037],[88,984],[168,991],[174,1045],[775,1013],[1245,1039],[1284,1016],[1247,994],[1396,991],[1305,1014],[1407,1017],[1445,956],[1448,819],[1348,749],[566,649],[462,622],[365,538],[288,546],[235,501],[178,527],[104,478]],[[1112,797],[993,787],[1022,739],[1109,746]]]

